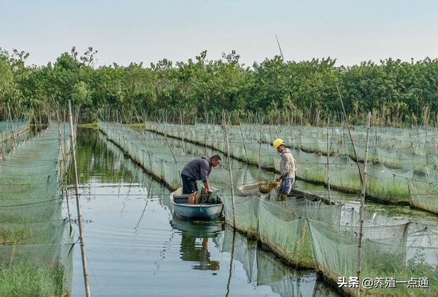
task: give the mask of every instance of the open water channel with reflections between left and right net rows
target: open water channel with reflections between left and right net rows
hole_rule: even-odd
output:
[[[170,191],[97,131],[79,129],[77,144],[93,296],[338,296],[223,220],[174,216]],[[74,267],[83,296],[79,248]]]

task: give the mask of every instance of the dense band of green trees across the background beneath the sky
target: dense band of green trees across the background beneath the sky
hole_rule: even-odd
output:
[[[368,112],[382,125],[396,126],[435,125],[438,116],[438,59],[428,57],[336,66],[331,57],[285,62],[274,56],[245,66],[235,51],[220,60],[208,60],[203,51],[186,62],[94,67],[96,53],[73,47],[53,63],[27,66],[29,53],[0,49],[0,118],[8,117],[8,107],[15,117],[48,116],[70,100],[83,121],[114,117],[115,111],[205,120],[224,109],[242,121],[257,115],[324,125],[341,118],[339,96],[352,124],[362,124]]]

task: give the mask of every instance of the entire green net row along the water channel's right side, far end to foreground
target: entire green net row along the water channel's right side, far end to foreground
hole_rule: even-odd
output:
[[[181,141],[168,140],[170,150],[163,135],[135,131],[125,125],[101,122],[99,127],[136,162],[172,188],[179,187],[178,170],[183,164],[205,151],[203,146],[181,147]],[[306,199],[283,202],[261,200],[257,185],[252,189],[246,187],[244,192],[239,190],[239,185],[257,181],[257,170],[234,168],[236,166],[233,166],[233,183],[237,230],[260,240],[293,266],[315,268],[334,284],[339,277],[348,280],[356,275],[359,215],[355,209]],[[262,170],[263,177],[266,174],[270,173]],[[210,180],[213,186],[222,190],[220,196],[224,202],[225,219],[233,225],[228,169],[224,166],[215,168]],[[403,282],[413,282],[413,278],[419,285],[422,279],[424,285],[424,278],[428,277],[429,288],[411,288],[404,283],[394,289],[383,284],[365,290],[364,294],[437,294],[438,228],[374,214],[365,214],[365,218],[363,278],[392,278]],[[353,288],[342,289],[346,294],[354,294]]]

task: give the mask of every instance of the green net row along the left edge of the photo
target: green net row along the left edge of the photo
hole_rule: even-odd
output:
[[[49,125],[0,162],[1,296],[70,294],[74,242],[62,219],[59,176],[65,138]]]

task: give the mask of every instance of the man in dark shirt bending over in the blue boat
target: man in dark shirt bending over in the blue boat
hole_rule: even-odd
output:
[[[211,194],[212,191],[208,185],[208,176],[211,172],[211,168],[220,165],[220,162],[222,162],[222,159],[220,159],[219,155],[214,155],[211,158],[203,156],[188,162],[188,164],[184,166],[181,171],[183,194],[190,194],[190,204],[196,203],[196,194],[198,194],[196,181],[203,181],[205,190],[208,194]]]

